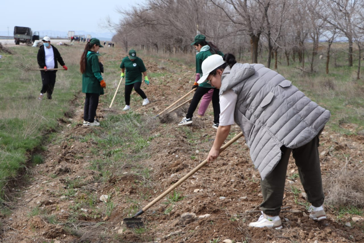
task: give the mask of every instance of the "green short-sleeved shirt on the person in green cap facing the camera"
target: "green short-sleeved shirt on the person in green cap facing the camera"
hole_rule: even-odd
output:
[[[147,71],[140,58],[131,61],[129,56],[123,58],[120,68],[125,68],[125,85],[142,82],[142,72]]]

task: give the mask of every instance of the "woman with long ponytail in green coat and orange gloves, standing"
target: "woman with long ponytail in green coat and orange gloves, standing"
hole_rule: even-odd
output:
[[[98,51],[101,46],[100,40],[92,38],[87,42],[80,60],[80,71],[82,73],[82,92],[86,94],[83,109],[84,126],[100,126],[95,121],[96,109],[99,105],[99,96],[103,94],[106,83],[100,73]]]

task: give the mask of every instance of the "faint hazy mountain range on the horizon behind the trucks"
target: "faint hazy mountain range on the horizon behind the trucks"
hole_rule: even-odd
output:
[[[40,38],[43,38],[44,36],[49,37],[59,37],[59,38],[65,38],[68,37],[68,31],[52,31],[52,30],[33,30],[33,33],[35,31],[39,32]],[[74,31],[74,30],[70,30]],[[98,38],[99,40],[103,41],[111,41],[112,36],[115,35],[115,33],[111,32],[87,32],[83,30],[75,30],[75,35],[84,35],[85,37],[87,35],[91,35],[91,38]],[[8,36],[8,31],[0,31],[0,36]],[[9,36],[13,36],[13,30],[9,30]]]

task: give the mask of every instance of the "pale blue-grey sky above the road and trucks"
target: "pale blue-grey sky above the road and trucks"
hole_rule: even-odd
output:
[[[146,0],[4,0],[0,4],[0,35],[8,35],[9,31],[12,36],[14,26],[30,27],[40,35],[46,35],[43,31],[61,31],[64,35],[68,31],[110,33],[102,26],[107,17],[118,23],[122,15],[116,9],[145,3]]]

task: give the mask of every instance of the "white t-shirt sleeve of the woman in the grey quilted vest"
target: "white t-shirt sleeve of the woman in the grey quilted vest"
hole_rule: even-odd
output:
[[[238,95],[233,90],[227,90],[219,96],[220,98],[220,119],[219,126],[235,124],[234,111]]]

